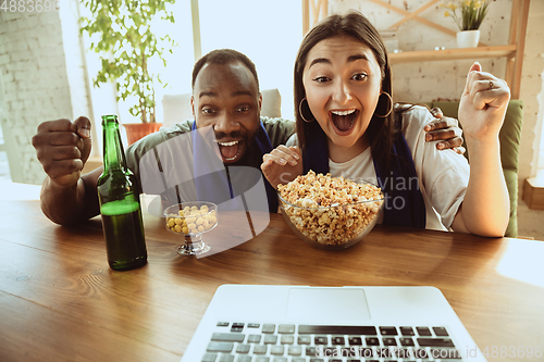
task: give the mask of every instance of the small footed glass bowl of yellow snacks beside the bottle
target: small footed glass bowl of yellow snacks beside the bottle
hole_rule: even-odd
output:
[[[218,226],[218,205],[213,202],[191,201],[176,203],[164,209],[166,230],[184,237],[177,247],[180,255],[199,255],[210,251],[202,234]]]

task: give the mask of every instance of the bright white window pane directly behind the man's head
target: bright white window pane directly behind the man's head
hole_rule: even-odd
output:
[[[236,49],[256,65],[261,90],[277,88],[282,116],[295,120],[293,68],[302,40],[300,0],[199,0],[202,54]]]

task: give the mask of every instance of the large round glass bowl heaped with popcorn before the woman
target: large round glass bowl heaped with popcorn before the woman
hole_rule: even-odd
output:
[[[367,236],[383,213],[381,189],[364,180],[310,171],[277,186],[280,209],[302,240],[321,249],[349,248]]]

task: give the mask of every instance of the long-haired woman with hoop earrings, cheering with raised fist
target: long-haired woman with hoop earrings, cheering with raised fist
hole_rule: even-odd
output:
[[[265,177],[274,187],[309,170],[373,179],[387,196],[384,224],[503,236],[509,200],[498,132],[510,98],[506,83],[479,63],[469,71],[459,122],[470,166],[425,146],[431,114],[393,104],[391,92],[385,47],[362,14],[316,25],[295,63],[297,135],[263,157]]]

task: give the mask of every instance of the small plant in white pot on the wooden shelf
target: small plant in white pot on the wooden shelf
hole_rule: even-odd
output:
[[[487,14],[489,0],[461,0],[459,5],[450,2],[446,8],[444,16],[452,16],[459,27],[457,33],[457,47],[474,48],[480,41],[480,25]],[[459,10],[459,15],[457,15]]]

